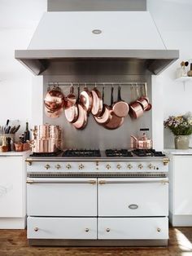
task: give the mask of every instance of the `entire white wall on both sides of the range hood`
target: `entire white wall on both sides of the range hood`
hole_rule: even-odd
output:
[[[155,148],[163,147],[164,136],[165,147],[170,147],[173,136],[168,130],[164,135],[163,120],[172,114],[192,111],[192,82],[186,83],[185,90],[182,83],[175,82],[181,60],[192,59],[192,1],[148,0],[147,7],[168,49],[180,50],[181,56],[164,73],[153,77]],[[14,59],[14,50],[27,48],[44,11],[46,0],[0,0],[0,125],[8,117],[23,123],[26,119],[41,121],[41,78],[33,77]],[[34,104],[37,113],[32,113]]]

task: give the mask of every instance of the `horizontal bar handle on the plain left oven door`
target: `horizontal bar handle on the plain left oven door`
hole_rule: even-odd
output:
[[[74,180],[74,181],[70,181],[70,180],[27,180],[26,183],[28,184],[96,184],[97,181],[94,180],[94,179],[90,179],[90,180],[87,180],[87,181],[77,181],[77,180]]]

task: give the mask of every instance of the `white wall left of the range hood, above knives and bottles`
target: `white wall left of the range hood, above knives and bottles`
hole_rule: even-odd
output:
[[[14,51],[27,48],[44,11],[46,0],[0,0],[0,126],[7,119],[22,126],[32,120],[33,74]]]

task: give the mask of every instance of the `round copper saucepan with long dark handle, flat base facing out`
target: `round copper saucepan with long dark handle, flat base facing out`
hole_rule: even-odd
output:
[[[121,99],[120,86],[118,86],[117,102],[113,104],[112,110],[117,117],[127,117],[129,113],[129,104]]]

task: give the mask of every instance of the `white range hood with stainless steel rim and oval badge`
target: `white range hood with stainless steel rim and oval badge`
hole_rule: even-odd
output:
[[[159,74],[178,58],[149,11],[48,11],[15,51],[36,75]]]

